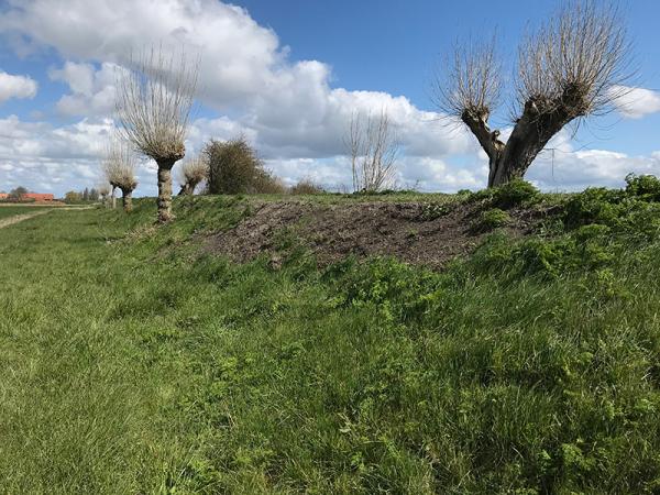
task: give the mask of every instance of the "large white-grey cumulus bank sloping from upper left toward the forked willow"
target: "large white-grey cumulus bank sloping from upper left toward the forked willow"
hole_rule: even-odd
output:
[[[235,6],[216,0],[167,0],[153,9],[148,1],[86,0],[10,1],[0,29],[31,42],[54,46],[65,57],[101,63],[68,62],[52,77],[72,88],[58,102],[65,113],[102,114],[114,95],[112,64],[125,64],[131,51],[183,46],[200,58],[204,103],[230,112],[238,125],[257,140],[266,157],[330,157],[343,153],[342,138],[355,111],[383,108],[400,131],[407,153],[442,157],[466,152],[463,131],[448,132],[441,116],[416,108],[405,97],[377,91],[331,88],[331,68],[318,61],[293,62],[277,35],[258,25]],[[70,15],[72,11],[77,15]],[[150,19],[144,29],[144,19]],[[102,30],[112,25],[122,29]]]

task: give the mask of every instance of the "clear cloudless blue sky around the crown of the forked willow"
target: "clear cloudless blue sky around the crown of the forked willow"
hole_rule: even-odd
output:
[[[517,42],[528,26],[557,10],[558,1],[365,0],[332,2],[246,0],[237,2],[260,23],[271,26],[292,56],[329,63],[336,84],[405,95],[420,108],[432,108],[428,80],[451,53],[455,40],[496,30],[499,48],[514,70]],[[660,2],[622,2],[635,43],[637,84],[660,91]],[[341,33],[338,35],[338,33]],[[513,76],[513,74],[509,74]],[[597,119],[580,133],[580,145],[605,145],[627,153],[650,153],[659,146],[660,113],[644,120],[614,116]]]

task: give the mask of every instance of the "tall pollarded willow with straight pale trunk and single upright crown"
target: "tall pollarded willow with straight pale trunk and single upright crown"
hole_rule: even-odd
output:
[[[172,215],[172,167],[186,155],[185,139],[199,64],[182,53],[151,50],[120,73],[117,116],[125,138],[158,166],[158,222]]]

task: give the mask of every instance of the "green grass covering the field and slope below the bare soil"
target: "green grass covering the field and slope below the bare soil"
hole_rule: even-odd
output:
[[[658,493],[658,208],[592,196],[442,272],[232,264],[231,197],[14,224],[0,491]]]

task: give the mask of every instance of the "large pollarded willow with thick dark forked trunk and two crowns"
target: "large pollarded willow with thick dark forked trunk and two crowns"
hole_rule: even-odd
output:
[[[495,40],[457,46],[449,72],[435,80],[441,111],[459,118],[488,156],[488,187],[522,177],[548,141],[571,122],[603,114],[631,77],[630,45],[616,8],[572,1],[518,47],[514,128],[508,140],[491,130],[502,64]]]

